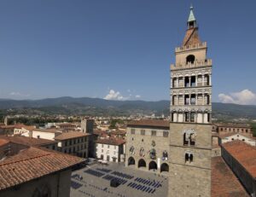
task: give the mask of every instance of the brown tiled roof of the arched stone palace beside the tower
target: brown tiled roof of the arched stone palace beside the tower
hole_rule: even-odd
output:
[[[142,119],[142,120],[132,120],[127,123],[129,126],[153,126],[153,127],[170,127],[170,122],[166,120],[156,120],[156,119]]]

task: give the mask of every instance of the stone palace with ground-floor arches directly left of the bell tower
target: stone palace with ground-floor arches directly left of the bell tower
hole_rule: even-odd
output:
[[[126,128],[125,165],[145,171],[169,171],[169,121],[131,121]]]

